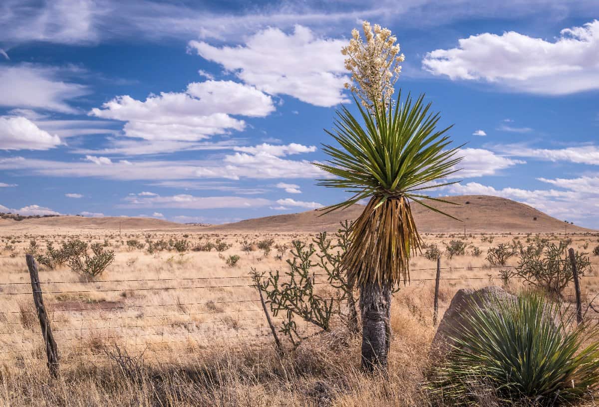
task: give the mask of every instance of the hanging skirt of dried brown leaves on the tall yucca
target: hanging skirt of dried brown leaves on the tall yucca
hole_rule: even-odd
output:
[[[358,285],[396,284],[410,279],[410,252],[422,247],[410,202],[392,197],[377,206],[373,196],[352,228],[352,244],[343,257],[343,268]]]

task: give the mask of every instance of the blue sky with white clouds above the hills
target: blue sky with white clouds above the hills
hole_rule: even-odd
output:
[[[599,228],[597,19],[594,0],[4,0],[0,211],[223,223],[343,200],[311,162],[369,20],[406,55],[396,89],[467,142],[435,195]]]

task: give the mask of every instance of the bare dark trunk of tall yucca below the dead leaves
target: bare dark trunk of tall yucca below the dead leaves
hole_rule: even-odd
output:
[[[366,283],[360,287],[362,369],[387,371],[391,341],[391,287]]]

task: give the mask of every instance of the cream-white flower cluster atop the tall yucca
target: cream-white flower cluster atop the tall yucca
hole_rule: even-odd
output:
[[[395,44],[397,38],[391,35],[391,30],[378,24],[373,30],[367,21],[362,29],[365,41],[354,28],[349,45],[341,48],[341,53],[347,56],[345,67],[352,72],[352,83],[346,83],[345,87],[358,96],[365,108],[374,111],[375,104],[384,107],[391,103],[401,72],[400,62],[405,57],[400,54],[400,45]]]

